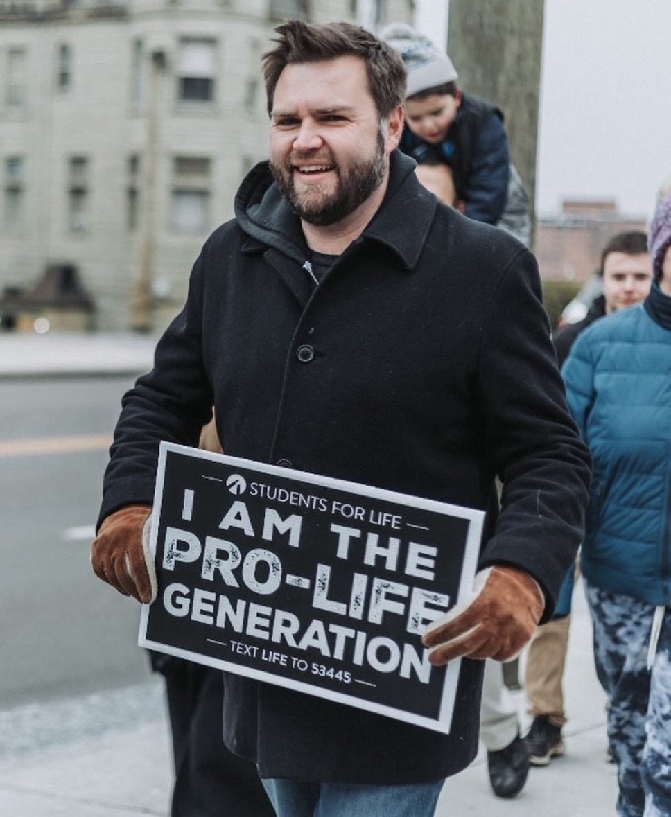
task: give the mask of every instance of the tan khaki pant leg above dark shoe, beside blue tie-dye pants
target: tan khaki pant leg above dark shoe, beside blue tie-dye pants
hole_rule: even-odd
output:
[[[536,630],[526,658],[529,714],[547,715],[555,726],[566,723],[563,679],[569,627],[570,615],[543,624]]]

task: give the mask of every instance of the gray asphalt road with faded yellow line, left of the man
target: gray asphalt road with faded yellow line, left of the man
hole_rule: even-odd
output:
[[[150,677],[139,605],[88,561],[128,377],[0,383],[0,710]]]

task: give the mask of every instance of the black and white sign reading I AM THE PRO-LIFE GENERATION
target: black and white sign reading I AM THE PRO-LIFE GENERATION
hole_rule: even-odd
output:
[[[450,730],[421,636],[472,588],[484,514],[162,443],[139,643]]]

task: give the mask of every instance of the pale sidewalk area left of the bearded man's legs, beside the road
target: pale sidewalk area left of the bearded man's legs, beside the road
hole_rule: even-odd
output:
[[[0,712],[0,735],[2,815],[168,814],[172,756],[158,676]]]

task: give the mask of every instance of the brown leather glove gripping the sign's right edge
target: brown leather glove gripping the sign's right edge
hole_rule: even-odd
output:
[[[464,656],[508,661],[531,640],[544,607],[530,574],[497,565],[476,575],[472,598],[430,624],[422,643],[436,667]]]

